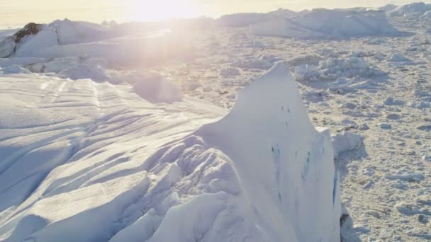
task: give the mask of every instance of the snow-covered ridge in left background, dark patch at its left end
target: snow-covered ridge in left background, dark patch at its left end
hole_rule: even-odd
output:
[[[184,56],[190,52],[189,38],[181,33],[150,33],[136,29],[126,31],[126,36],[116,28],[74,22],[65,19],[41,25],[35,35],[28,35],[20,42],[9,44],[9,39],[0,43],[0,57],[60,58],[104,57],[117,63],[159,62],[167,58]],[[126,37],[126,38],[125,38]],[[11,41],[13,41],[11,39]]]

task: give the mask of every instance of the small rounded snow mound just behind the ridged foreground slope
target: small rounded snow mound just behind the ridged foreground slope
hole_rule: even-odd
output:
[[[181,101],[181,89],[163,76],[150,76],[135,83],[133,91],[151,103]]]

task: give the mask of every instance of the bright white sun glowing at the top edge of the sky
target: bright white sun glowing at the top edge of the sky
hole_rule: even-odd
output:
[[[126,16],[130,21],[164,21],[172,18],[198,16],[196,4],[191,0],[125,0]]]

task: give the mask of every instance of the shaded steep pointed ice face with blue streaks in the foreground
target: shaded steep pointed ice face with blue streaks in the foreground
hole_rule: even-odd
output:
[[[285,64],[240,91],[231,112],[197,134],[233,162],[262,241],[340,239],[330,132],[311,125]]]

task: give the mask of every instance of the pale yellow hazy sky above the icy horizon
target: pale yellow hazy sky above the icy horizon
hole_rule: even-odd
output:
[[[431,0],[425,0],[430,2]],[[218,17],[228,13],[265,12],[277,8],[347,8],[406,4],[409,0],[0,0],[0,26],[21,27],[55,19],[101,23],[160,21],[169,18]]]

